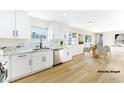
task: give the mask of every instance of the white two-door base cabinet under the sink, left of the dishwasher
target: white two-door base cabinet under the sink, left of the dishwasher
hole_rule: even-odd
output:
[[[32,71],[39,71],[53,66],[53,51],[32,54]]]

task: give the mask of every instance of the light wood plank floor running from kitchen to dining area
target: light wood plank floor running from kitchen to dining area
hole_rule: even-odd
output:
[[[98,73],[98,70],[117,70],[120,73]],[[80,54],[73,60],[14,81],[14,83],[115,83],[124,82],[124,56],[112,55],[107,63]]]

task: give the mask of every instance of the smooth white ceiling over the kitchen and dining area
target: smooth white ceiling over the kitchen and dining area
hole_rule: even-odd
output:
[[[56,20],[92,32],[124,30],[124,11],[114,10],[33,10],[30,16]]]

